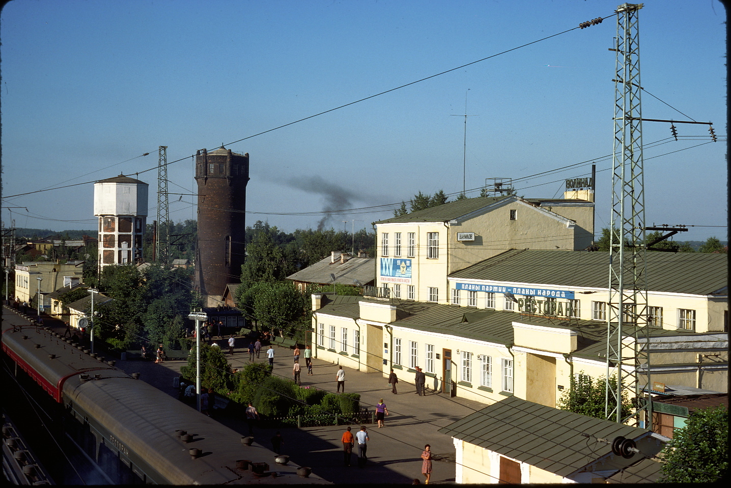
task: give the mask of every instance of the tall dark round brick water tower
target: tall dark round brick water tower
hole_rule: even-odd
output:
[[[204,305],[222,305],[227,283],[240,283],[246,235],[249,153],[203,149],[195,156],[198,182],[196,286]]]

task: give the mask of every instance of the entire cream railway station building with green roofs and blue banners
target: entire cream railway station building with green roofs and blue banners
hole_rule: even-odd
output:
[[[401,384],[420,367],[429,389],[488,405],[555,407],[572,376],[607,374],[609,254],[580,251],[593,204],[567,200],[463,199],[378,223],[378,286],[312,296],[315,354]],[[724,254],[647,253],[650,339],[629,323],[624,344],[649,347],[653,382],[727,392],[727,271]]]

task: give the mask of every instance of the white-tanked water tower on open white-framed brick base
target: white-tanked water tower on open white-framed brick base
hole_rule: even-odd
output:
[[[148,184],[124,175],[94,183],[94,215],[99,217],[99,269],[142,261]]]

